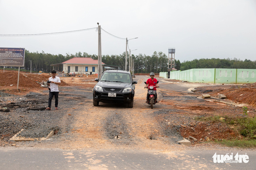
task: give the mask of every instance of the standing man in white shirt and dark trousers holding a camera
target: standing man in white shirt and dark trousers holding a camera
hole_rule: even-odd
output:
[[[52,77],[49,78],[50,81],[50,90],[49,90],[49,99],[48,99],[48,108],[46,110],[50,110],[52,105],[53,96],[55,98],[55,110],[58,109],[58,97],[59,97],[59,87],[60,77],[56,77],[56,71],[52,71]]]

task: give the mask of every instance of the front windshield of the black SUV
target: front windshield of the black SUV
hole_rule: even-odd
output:
[[[122,82],[130,83],[130,76],[127,73],[116,73],[116,72],[106,72],[104,73],[100,81],[112,81],[112,82]]]

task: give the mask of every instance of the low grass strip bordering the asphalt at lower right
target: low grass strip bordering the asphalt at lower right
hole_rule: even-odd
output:
[[[216,141],[217,143],[221,143],[222,145],[228,147],[240,147],[240,148],[255,148],[256,140],[222,140]]]

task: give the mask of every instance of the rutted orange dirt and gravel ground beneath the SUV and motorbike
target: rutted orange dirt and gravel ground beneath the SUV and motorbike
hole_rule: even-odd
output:
[[[48,91],[34,89],[23,96],[1,92],[0,146],[31,146],[42,148],[127,148],[171,150],[183,148],[176,141],[193,136],[197,141],[192,147],[207,146],[210,140],[236,138],[237,133],[220,122],[211,123],[195,119],[197,116],[215,114],[241,115],[241,107],[225,104],[220,100],[207,101],[198,94],[180,91],[158,90],[160,103],[151,109],[144,89],[146,76],[136,76],[134,107],[127,105],[92,104],[93,78],[65,78],[67,86],[61,86],[59,110],[46,111]],[[144,79],[144,80],[143,80]],[[69,85],[68,85],[69,84]],[[170,83],[173,84],[173,83]],[[8,91],[8,90],[7,90]],[[54,101],[53,101],[54,104]],[[26,129],[26,135],[38,137],[53,130],[55,135],[45,141],[9,141]],[[188,138],[189,139],[189,138]]]

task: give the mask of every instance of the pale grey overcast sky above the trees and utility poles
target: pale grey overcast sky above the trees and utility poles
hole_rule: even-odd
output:
[[[95,28],[58,35],[0,36],[0,47],[98,54],[97,22],[110,34],[130,39],[134,55],[161,51],[168,56],[168,48],[175,48],[175,59],[181,62],[256,60],[256,0],[0,0],[0,35]],[[125,39],[101,33],[102,55],[125,52]]]

